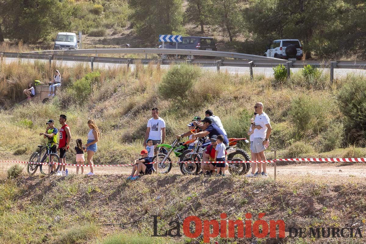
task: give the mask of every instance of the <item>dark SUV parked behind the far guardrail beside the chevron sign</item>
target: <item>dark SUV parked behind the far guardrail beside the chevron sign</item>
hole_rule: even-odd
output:
[[[159,45],[159,48],[163,48],[163,45]],[[164,48],[175,49],[176,43],[175,42],[165,43]],[[182,37],[182,42],[178,42],[178,49],[217,51],[217,45],[212,37]],[[188,56],[188,58],[193,59],[193,55]]]

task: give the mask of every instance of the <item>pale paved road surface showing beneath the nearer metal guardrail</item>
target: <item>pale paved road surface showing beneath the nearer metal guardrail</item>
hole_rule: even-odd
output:
[[[34,59],[21,59],[22,62],[29,62],[33,63]],[[17,62],[19,59],[16,58],[4,58],[3,61],[5,63],[11,63],[11,62]],[[48,61],[45,61],[48,62]],[[75,66],[78,63],[85,63],[85,62],[78,62],[78,61],[53,61],[57,63],[62,63],[63,65],[67,66]],[[90,65],[90,64],[89,64]],[[108,63],[96,63],[94,62],[94,68],[112,68],[112,67],[118,67],[120,65],[126,65],[126,64],[108,64]],[[133,64],[130,65],[131,69],[134,69]],[[162,68],[169,68],[170,65],[161,65]],[[212,70],[216,71],[216,66],[202,66],[205,70]],[[300,68],[291,68],[292,72],[298,72],[301,70]],[[324,73],[328,73],[329,69],[321,69]],[[249,74],[249,67],[229,67],[229,66],[221,66],[220,67],[221,72],[229,72],[231,74]],[[264,75],[265,77],[273,77],[273,69],[272,68],[253,68],[253,73],[255,75]],[[334,69],[334,78],[341,78],[344,76],[347,76],[347,74],[357,74],[357,75],[363,75],[366,76],[366,70],[358,70],[358,69]]]

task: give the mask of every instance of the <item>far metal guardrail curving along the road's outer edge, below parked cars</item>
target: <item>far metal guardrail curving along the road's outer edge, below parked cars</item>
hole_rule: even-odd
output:
[[[61,55],[73,55],[73,54],[167,54],[167,55],[194,55],[194,56],[211,56],[211,57],[227,57],[247,60],[280,60],[272,57],[251,55],[245,53],[234,52],[221,52],[221,51],[208,51],[208,50],[193,50],[193,49],[163,49],[163,48],[104,48],[104,49],[77,49],[77,50],[44,50],[34,51],[30,53],[40,54],[61,54]]]

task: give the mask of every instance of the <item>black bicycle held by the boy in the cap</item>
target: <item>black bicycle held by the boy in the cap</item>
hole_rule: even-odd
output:
[[[35,162],[35,164],[28,164],[27,165],[27,171],[30,175],[33,175],[36,173],[38,166],[40,167],[40,172],[42,174],[55,174],[57,170],[59,170],[60,165],[55,165],[56,170],[52,170],[52,163],[53,162],[59,162],[59,155],[56,153],[50,153],[51,150],[51,143],[47,142],[46,146],[38,145],[39,151],[35,151],[30,156],[29,162]],[[46,150],[45,150],[46,149]],[[45,150],[45,154],[43,155],[41,159],[41,153]],[[53,156],[52,163],[51,163],[51,156]],[[48,164],[41,164],[41,163],[48,163]],[[43,166],[43,167],[42,167]]]

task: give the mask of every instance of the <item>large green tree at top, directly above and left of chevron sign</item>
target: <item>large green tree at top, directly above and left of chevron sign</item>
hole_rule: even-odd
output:
[[[159,34],[184,33],[182,0],[130,0],[130,20],[137,34],[156,42]]]

